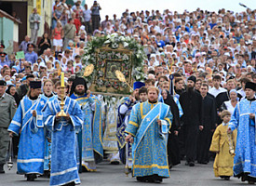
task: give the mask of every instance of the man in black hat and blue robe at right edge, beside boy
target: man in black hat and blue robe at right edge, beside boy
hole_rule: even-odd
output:
[[[246,98],[236,104],[228,126],[228,133],[237,128],[234,175],[249,184],[256,182],[255,91],[255,83],[246,83]]]

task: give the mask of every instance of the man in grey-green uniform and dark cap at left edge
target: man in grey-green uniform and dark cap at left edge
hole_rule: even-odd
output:
[[[9,135],[7,127],[9,126],[17,104],[14,98],[6,93],[7,82],[0,80],[0,173],[5,173],[4,165],[6,164],[7,148]]]

